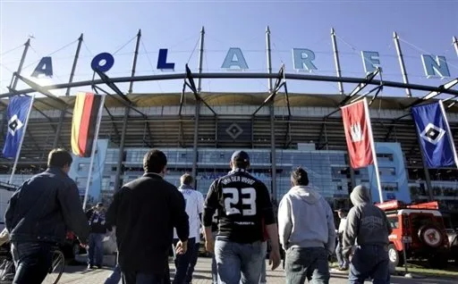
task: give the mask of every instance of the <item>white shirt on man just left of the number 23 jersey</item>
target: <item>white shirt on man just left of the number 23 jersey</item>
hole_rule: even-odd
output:
[[[204,211],[204,196],[194,189],[178,189],[182,196],[184,197],[184,201],[186,203],[186,213],[189,217],[190,222],[190,237],[189,238],[196,238],[196,242],[200,241],[200,218],[199,214],[203,213]],[[174,238],[178,238],[176,235],[176,230],[174,229]]]

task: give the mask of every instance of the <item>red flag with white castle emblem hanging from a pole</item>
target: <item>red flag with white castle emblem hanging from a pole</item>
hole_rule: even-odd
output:
[[[348,155],[353,169],[374,163],[374,141],[366,98],[341,108]]]

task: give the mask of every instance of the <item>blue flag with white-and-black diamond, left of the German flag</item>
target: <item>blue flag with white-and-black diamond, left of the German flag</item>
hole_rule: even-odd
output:
[[[4,138],[3,155],[5,158],[16,156],[21,145],[22,135],[25,134],[26,121],[33,104],[31,96],[13,96],[7,110],[7,129]]]

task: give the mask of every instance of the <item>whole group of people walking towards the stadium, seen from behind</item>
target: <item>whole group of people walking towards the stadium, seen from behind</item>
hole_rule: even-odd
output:
[[[350,283],[389,283],[386,215],[372,205],[368,188],[353,188],[353,207],[335,230],[334,213],[310,188],[307,171],[291,174],[292,188],[274,209],[266,185],[250,175],[250,156],[236,151],[229,171],[214,180],[205,197],[184,174],[180,188],[164,180],[167,158],[159,150],[144,156],[145,173],[124,184],[106,209],[98,204],[84,213],[78,188],[67,175],[72,155],[55,149],[48,169],[25,181],[5,213],[5,232],[16,266],[14,284],[41,283],[51,265],[53,246],[72,230],[88,248],[88,268],[103,264],[102,240],[114,230],[117,264],[106,284],[171,283],[169,253],[174,251],[174,284],[190,284],[198,261],[200,232],[212,254],[213,282],[266,283],[268,263],[281,263],[288,284],[328,283],[328,256],[340,270],[350,268]],[[337,239],[337,246],[335,240]]]

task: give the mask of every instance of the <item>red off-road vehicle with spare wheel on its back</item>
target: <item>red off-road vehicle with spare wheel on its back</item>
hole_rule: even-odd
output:
[[[390,263],[402,265],[405,250],[407,258],[428,259],[431,267],[445,268],[450,246],[436,201],[406,205],[392,200],[377,206],[385,211],[393,228],[389,236]]]

